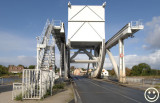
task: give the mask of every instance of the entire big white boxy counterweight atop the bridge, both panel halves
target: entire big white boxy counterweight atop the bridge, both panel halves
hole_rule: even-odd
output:
[[[102,42],[105,40],[105,8],[103,6],[68,7],[68,41],[69,44],[84,42]],[[82,43],[80,43],[82,42]],[[77,44],[76,44],[77,45]],[[87,45],[88,46],[88,45]]]

